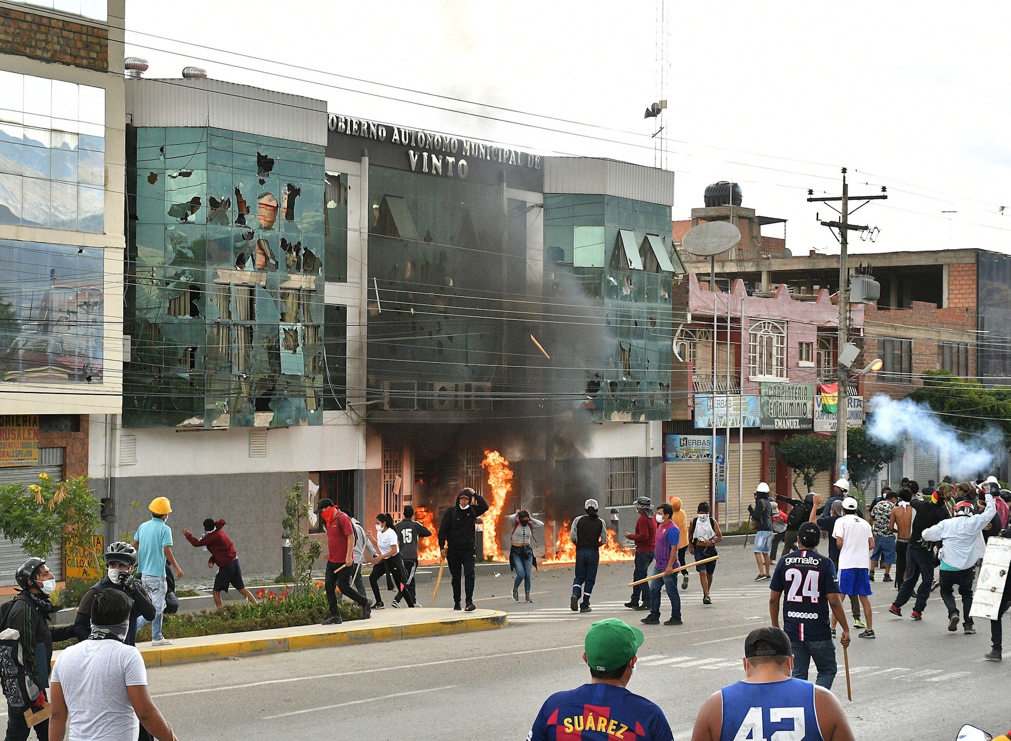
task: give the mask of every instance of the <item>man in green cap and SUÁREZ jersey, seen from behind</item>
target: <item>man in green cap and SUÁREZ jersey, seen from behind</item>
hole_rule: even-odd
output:
[[[591,625],[582,655],[589,683],[548,697],[527,741],[673,741],[663,711],[626,689],[642,642],[642,631],[622,621]]]

